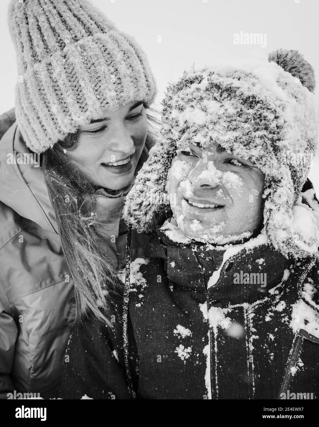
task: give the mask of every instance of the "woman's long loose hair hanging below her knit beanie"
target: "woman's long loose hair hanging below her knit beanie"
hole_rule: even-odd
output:
[[[147,105],[147,110],[155,112]],[[147,113],[148,122],[157,123]],[[149,149],[154,145],[153,132],[149,131],[145,147],[137,168],[145,162]],[[92,195],[99,188],[88,182],[87,177],[75,166],[65,150],[72,151],[77,146],[79,131],[69,134],[56,143],[42,156],[42,170],[52,203],[62,249],[73,279],[75,306],[74,321],[93,315],[110,325],[110,292],[118,292],[119,280],[116,270],[97,243],[98,235],[92,226],[94,211]],[[104,243],[116,256],[113,245],[104,238]],[[100,309],[100,308],[102,309]]]

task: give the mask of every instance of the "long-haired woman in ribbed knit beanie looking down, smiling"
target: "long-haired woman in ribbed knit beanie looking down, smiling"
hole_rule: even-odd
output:
[[[52,398],[73,321],[112,322],[123,196],[152,145],[156,88],[141,48],[84,0],[14,0],[9,25],[19,81],[0,144],[0,393]]]

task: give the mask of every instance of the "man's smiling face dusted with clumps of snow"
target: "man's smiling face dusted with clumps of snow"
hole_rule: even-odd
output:
[[[177,225],[192,239],[226,243],[263,221],[264,174],[214,144],[189,145],[174,159],[167,191]]]

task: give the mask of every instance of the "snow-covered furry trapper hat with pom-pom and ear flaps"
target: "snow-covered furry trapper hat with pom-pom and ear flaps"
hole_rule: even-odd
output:
[[[218,143],[264,172],[270,243],[285,256],[316,253],[318,225],[299,199],[317,145],[313,88],[312,67],[291,50],[185,71],[163,100],[161,137],[127,196],[126,221],[139,231],[153,229],[169,207],[166,178],[177,152],[188,143]]]

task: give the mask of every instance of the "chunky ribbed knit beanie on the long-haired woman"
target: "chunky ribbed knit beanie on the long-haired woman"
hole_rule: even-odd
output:
[[[101,109],[150,104],[156,83],[141,47],[85,0],[12,0],[16,116],[26,145],[43,152]]]

